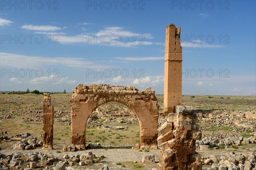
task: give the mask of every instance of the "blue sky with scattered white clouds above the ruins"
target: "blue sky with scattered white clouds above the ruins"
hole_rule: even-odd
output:
[[[182,94],[256,94],[256,1],[0,1],[0,91],[77,84],[163,94],[165,28],[181,27]]]

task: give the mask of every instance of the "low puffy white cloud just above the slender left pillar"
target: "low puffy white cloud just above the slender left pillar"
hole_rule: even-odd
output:
[[[75,80],[70,80],[68,79],[68,77],[65,78],[60,78],[60,77],[56,77],[55,75],[50,75],[49,77],[38,77],[35,79],[30,80],[31,84],[50,84],[50,85],[58,85],[58,84],[75,84],[76,81]]]

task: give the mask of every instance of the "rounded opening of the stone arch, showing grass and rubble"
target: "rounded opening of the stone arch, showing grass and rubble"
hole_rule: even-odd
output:
[[[85,126],[87,148],[132,148],[140,145],[140,121],[136,113],[119,102],[107,102],[93,109]]]

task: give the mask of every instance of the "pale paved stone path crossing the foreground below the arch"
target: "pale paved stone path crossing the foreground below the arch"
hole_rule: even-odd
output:
[[[218,150],[196,150],[198,153],[202,155],[202,157],[215,155],[225,156],[230,151],[234,151],[235,153],[245,153],[250,154],[253,150],[256,150],[256,145],[252,145],[250,150],[237,150],[233,148],[227,149],[218,149]],[[11,155],[12,153],[21,152],[23,154],[33,153],[33,152],[41,152],[46,153],[47,155],[54,155],[58,158],[64,156],[64,154],[77,155],[77,154],[85,154],[86,152],[91,151],[93,154],[96,155],[104,155],[106,158],[103,159],[103,162],[98,165],[93,166],[72,166],[66,167],[66,170],[99,170],[103,167],[103,164],[109,162],[111,166],[108,166],[110,170],[131,170],[128,167],[121,167],[121,165],[116,165],[116,162],[128,162],[128,161],[140,161],[142,156],[145,154],[152,154],[155,156],[156,164],[145,164],[144,170],[151,170],[152,167],[157,168],[157,162],[159,161],[159,153],[158,150],[150,150],[149,152],[139,152],[139,150],[133,149],[91,149],[91,150],[83,150],[83,151],[76,151],[76,152],[62,152],[56,153],[57,149],[55,150],[41,150],[41,149],[33,149],[33,150],[10,150],[10,149],[3,149],[0,150],[1,154],[4,155]],[[104,163],[105,162],[105,163]]]

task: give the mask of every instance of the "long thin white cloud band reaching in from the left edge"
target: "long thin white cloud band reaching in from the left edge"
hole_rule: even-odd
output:
[[[38,68],[44,65],[65,65],[74,68],[103,67],[94,62],[86,61],[84,58],[72,57],[37,57],[20,54],[0,53],[1,66],[12,66],[16,68]]]

